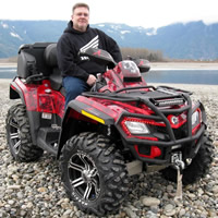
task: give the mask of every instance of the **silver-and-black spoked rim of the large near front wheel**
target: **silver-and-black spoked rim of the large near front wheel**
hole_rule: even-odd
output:
[[[98,169],[93,159],[82,152],[73,155],[68,166],[73,194],[85,202],[93,202],[100,193]]]

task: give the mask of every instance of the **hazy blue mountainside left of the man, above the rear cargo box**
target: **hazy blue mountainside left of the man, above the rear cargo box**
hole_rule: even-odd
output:
[[[16,56],[23,44],[57,41],[66,22],[0,21],[0,58]]]

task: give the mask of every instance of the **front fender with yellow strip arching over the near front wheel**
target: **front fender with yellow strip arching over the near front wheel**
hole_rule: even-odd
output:
[[[83,101],[81,101],[83,99]],[[114,119],[109,114],[113,114],[112,110],[105,110],[105,106],[93,101],[90,99],[81,97],[69,102],[66,111],[64,113],[61,126],[61,134],[59,137],[59,147],[57,153],[57,159],[59,159],[61,149],[65,142],[75,134],[80,134],[83,130],[80,129],[80,121],[83,120],[87,123],[113,125]],[[92,130],[90,130],[92,131]]]

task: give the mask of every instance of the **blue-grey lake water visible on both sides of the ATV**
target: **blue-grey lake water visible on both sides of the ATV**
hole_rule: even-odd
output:
[[[16,68],[0,68],[0,78],[13,78]],[[147,83],[218,85],[218,70],[150,70],[143,74]]]

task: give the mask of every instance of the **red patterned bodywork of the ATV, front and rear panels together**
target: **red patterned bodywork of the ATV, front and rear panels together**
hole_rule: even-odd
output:
[[[105,85],[98,89],[98,93],[90,92],[89,96],[80,95],[76,99],[71,101],[72,104],[70,102],[71,106],[68,109],[69,112],[65,122],[68,122],[69,118],[96,125],[99,124],[98,121],[102,121],[101,123],[104,124],[108,121],[109,125],[112,123],[117,126],[125,141],[132,143],[131,146],[135,150],[136,156],[149,159],[159,158],[164,152],[162,148],[160,148],[161,146],[158,147],[158,143],[170,143],[170,137],[173,137],[173,131],[179,130],[187,122],[189,116],[187,110],[185,110],[186,105],[168,104],[165,105],[165,107],[152,106],[149,97],[153,98],[153,95],[146,95],[143,99],[143,95],[148,94],[149,92],[152,94],[152,92],[155,92],[156,89],[153,86],[147,86],[146,82],[141,76],[138,69],[134,64],[132,65],[131,62],[118,63],[114,69],[105,72],[101,78],[105,81]],[[44,80],[41,83],[36,84],[26,84],[16,77],[14,83],[22,90],[27,110],[58,114],[60,118],[63,118],[64,96],[60,92],[51,88],[49,80]],[[15,89],[13,86],[12,88]],[[100,93],[102,95],[100,95]],[[158,92],[156,90],[156,93]],[[157,94],[160,96],[161,102],[167,100],[171,101],[173,94],[165,94],[166,93],[161,95],[161,92]],[[120,97],[120,99],[113,96]],[[128,99],[126,101],[121,100],[123,96],[123,99]],[[162,96],[169,96],[169,99],[168,97],[162,98]],[[158,99],[158,97],[155,98],[157,104]],[[159,108],[157,109],[157,107]],[[158,111],[161,109],[168,110],[169,113],[167,113],[165,118],[160,116],[158,120]],[[170,113],[171,110],[180,110],[181,112]],[[201,113],[201,110],[197,110]],[[132,123],[143,123],[143,125],[147,126],[148,133],[133,134],[126,126],[126,121]],[[201,129],[201,125],[202,123],[199,121],[199,124],[192,130],[192,135],[196,134]],[[168,130],[168,133],[161,132],[161,129]],[[153,131],[160,131],[159,135],[166,134],[168,136],[159,137],[158,134],[155,135]],[[171,140],[174,141],[174,138]],[[144,150],[144,144],[147,145],[149,148],[148,150]]]

